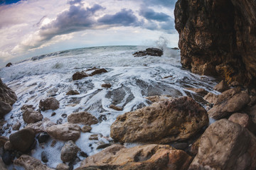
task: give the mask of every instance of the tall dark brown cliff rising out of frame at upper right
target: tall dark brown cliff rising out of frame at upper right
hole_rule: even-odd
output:
[[[252,82],[256,77],[256,1],[178,0],[181,64],[197,74]]]

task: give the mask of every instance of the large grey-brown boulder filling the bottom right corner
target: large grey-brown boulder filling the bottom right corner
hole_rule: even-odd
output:
[[[256,137],[236,123],[218,120],[203,133],[189,169],[256,169]]]

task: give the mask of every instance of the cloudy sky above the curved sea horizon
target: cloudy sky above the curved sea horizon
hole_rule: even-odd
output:
[[[0,0],[0,63],[101,45],[176,47],[176,0]]]

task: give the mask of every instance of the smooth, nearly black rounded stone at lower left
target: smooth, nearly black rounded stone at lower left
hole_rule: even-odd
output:
[[[33,145],[35,135],[36,134],[32,128],[25,128],[11,134],[9,139],[11,145],[13,145],[15,149],[21,152],[26,152],[31,145]]]

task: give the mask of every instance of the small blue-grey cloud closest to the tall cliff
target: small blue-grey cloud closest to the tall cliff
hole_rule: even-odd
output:
[[[171,18],[166,13],[158,13],[151,8],[141,8],[139,11],[139,15],[144,16],[144,18],[148,20],[155,20],[159,22],[169,21],[169,19]]]

